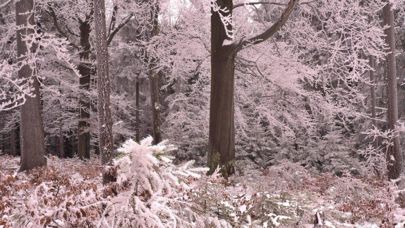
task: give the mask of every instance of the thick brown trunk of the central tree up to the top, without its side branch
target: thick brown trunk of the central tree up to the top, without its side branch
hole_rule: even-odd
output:
[[[232,15],[232,0],[217,0]],[[229,31],[232,26],[227,27]],[[234,74],[235,44],[226,34],[219,12],[211,9],[211,101],[209,108],[208,167],[212,173],[222,167],[225,177],[235,172]]]

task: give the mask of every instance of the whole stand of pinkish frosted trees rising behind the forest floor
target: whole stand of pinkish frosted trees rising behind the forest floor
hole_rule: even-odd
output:
[[[38,154],[102,153],[105,108],[114,148],[153,135],[154,144],[178,146],[175,162],[196,160],[211,172],[287,159],[314,172],[388,170],[396,179],[404,3],[389,2],[112,0],[102,4],[107,46],[99,50],[93,1],[36,1],[30,39],[16,32],[14,23],[26,23],[12,14],[18,4],[5,1],[1,150],[24,158],[32,136],[45,142]],[[32,72],[18,77],[24,61]],[[111,95],[98,96],[100,83]]]

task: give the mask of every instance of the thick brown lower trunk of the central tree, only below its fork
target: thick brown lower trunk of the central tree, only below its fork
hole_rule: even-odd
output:
[[[218,48],[211,55],[211,102],[208,167],[222,166],[224,176],[235,172],[234,69],[235,55]]]

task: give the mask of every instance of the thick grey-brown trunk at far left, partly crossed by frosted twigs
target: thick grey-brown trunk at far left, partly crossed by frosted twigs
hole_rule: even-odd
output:
[[[19,0],[16,2],[16,25],[17,25],[17,56],[19,61],[27,59],[27,54],[36,50],[35,44],[28,46],[23,41],[24,36],[34,34],[34,29],[27,26],[34,26],[34,0]],[[31,68],[32,67],[32,68]],[[29,170],[46,164],[45,137],[42,124],[40,85],[36,75],[36,64],[23,65],[18,71],[20,78],[32,79],[31,87],[34,89],[35,97],[27,97],[21,105],[21,161],[20,170]]]

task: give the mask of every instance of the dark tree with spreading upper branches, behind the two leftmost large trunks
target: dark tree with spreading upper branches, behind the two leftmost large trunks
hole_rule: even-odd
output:
[[[126,4],[124,2],[120,3]],[[45,3],[43,4],[46,5]],[[93,26],[91,21],[93,20],[94,13],[93,1],[86,0],[81,2],[81,4],[78,4],[76,1],[50,1],[48,5],[52,6],[48,6],[49,10],[47,13],[51,16],[54,27],[62,37],[70,42],[70,46],[78,52],[80,57],[78,66],[81,75],[79,79],[80,119],[78,123],[78,156],[81,159],[88,159],[90,158],[90,113],[92,109],[89,93],[91,93],[91,75],[96,73],[93,64],[93,61],[96,60],[96,56],[93,53],[94,49],[91,47],[90,41],[90,33]],[[119,8],[117,4],[113,7],[107,36],[107,45],[110,45],[115,35],[132,19],[130,10],[119,12]],[[125,9],[125,7],[121,8]],[[80,9],[81,15],[78,15],[78,17],[70,17],[73,11],[78,9]],[[124,16],[122,16],[121,21],[117,23],[121,15]],[[75,31],[76,26],[79,27],[79,31]],[[66,27],[66,29],[63,29],[63,27]],[[77,38],[79,38],[79,41],[75,41]]]

